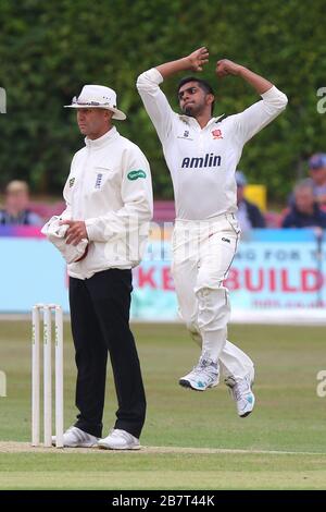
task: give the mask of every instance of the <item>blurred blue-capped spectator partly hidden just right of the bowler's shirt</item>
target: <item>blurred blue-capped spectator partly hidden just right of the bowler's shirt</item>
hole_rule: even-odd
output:
[[[238,205],[238,222],[241,231],[248,231],[252,228],[265,228],[265,219],[256,205],[244,199],[244,186],[247,180],[241,171],[236,171],[237,183],[237,205]]]

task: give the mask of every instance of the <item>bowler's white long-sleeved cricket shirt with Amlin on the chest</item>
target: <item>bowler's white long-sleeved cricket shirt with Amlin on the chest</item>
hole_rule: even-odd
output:
[[[286,108],[286,95],[273,86],[243,112],[212,118],[201,129],[195,118],[172,110],[159,87],[162,82],[153,68],[138,77],[137,88],[162,143],[177,218],[205,220],[236,212],[235,171],[242,147]]]

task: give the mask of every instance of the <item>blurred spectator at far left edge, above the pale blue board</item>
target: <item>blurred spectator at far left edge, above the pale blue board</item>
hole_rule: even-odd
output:
[[[0,225],[42,225],[42,219],[28,209],[29,188],[25,181],[11,181],[5,187]]]

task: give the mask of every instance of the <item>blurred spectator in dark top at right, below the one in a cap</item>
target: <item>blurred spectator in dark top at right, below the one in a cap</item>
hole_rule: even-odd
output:
[[[314,187],[311,180],[303,180],[294,187],[294,204],[285,217],[283,228],[326,229],[326,212],[315,202]]]

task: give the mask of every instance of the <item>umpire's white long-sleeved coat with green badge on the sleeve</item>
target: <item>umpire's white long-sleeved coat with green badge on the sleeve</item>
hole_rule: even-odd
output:
[[[85,220],[87,256],[68,265],[68,275],[88,279],[109,268],[139,264],[152,218],[150,167],[138,146],[112,127],[73,158],[63,195],[63,218]]]

